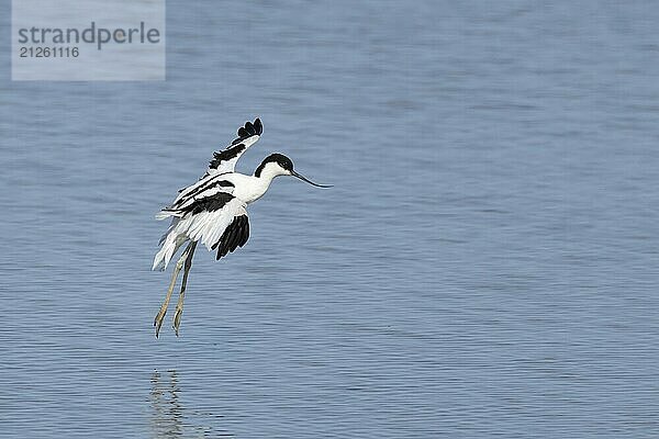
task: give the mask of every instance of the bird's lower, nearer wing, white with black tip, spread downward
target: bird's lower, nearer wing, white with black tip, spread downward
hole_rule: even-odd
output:
[[[181,237],[200,240],[209,250],[216,249],[217,259],[237,247],[243,247],[249,238],[246,207],[245,202],[231,193],[217,192],[197,198],[179,209],[164,209],[160,216],[172,216],[174,222],[163,241],[163,255],[160,258],[156,256],[154,267],[159,261],[165,261],[166,264],[169,262],[180,246],[178,243]]]

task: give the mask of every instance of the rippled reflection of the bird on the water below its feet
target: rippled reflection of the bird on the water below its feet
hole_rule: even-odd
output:
[[[150,429],[153,438],[233,437],[226,431],[219,431],[210,425],[203,425],[205,423],[200,423],[203,418],[217,418],[217,415],[198,413],[183,407],[176,370],[168,370],[165,373],[154,371],[150,376]]]

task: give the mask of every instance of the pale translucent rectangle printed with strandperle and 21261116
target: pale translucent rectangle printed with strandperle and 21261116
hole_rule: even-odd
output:
[[[12,80],[165,80],[165,0],[12,0]]]

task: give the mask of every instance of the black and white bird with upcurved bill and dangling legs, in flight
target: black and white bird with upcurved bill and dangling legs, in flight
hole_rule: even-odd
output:
[[[260,199],[276,177],[293,176],[319,188],[331,188],[314,183],[295,172],[291,159],[281,154],[266,157],[253,176],[234,172],[236,161],[259,139],[263,131],[259,119],[254,123],[246,122],[245,126],[238,130],[238,137],[230,146],[213,154],[206,172],[199,181],[181,189],[171,205],[156,214],[157,219],[171,217],[171,225],[160,238],[161,248],[154,259],[154,270],[166,270],[174,255],[187,244],[174,268],[165,302],[154,322],[156,337],[167,313],[178,274],[183,269],[172,325],[178,336],[188,273],[198,241],[206,246],[209,251],[216,251],[216,259],[243,247],[249,237],[247,204]]]

